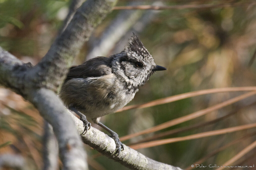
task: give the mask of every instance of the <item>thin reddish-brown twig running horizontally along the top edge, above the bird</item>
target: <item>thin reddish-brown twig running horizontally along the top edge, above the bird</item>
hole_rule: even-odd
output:
[[[136,6],[115,6],[113,10],[120,9],[146,9],[146,10],[164,10],[164,9],[207,9],[207,8],[226,8],[226,7],[238,7],[238,6],[249,6],[256,5],[255,2],[246,3],[228,3],[228,4],[185,4],[185,5],[171,5],[171,6],[154,6],[154,5],[136,5]]]

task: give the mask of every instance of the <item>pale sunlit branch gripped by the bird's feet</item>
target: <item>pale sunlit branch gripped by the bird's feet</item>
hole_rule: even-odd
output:
[[[69,112],[73,121],[76,124],[76,128],[79,134],[83,133],[84,127],[82,121],[80,121],[76,116]],[[91,146],[93,149],[99,151],[101,154],[113,159],[127,168],[130,169],[175,169],[181,170],[179,167],[168,165],[165,163],[157,162],[152,160],[145,155],[137,152],[134,149],[129,148],[124,145],[124,150],[119,156],[114,157],[112,153],[115,152],[115,142],[108,135],[104,134],[100,130],[91,127],[90,130],[84,135],[82,135],[82,140],[87,145]]]

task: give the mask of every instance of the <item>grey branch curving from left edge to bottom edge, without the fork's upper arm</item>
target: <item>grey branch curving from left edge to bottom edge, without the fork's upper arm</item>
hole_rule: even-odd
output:
[[[25,64],[0,47],[0,84],[29,100],[49,122],[58,139],[64,169],[86,169],[86,155],[74,123],[56,94],[46,88],[32,88],[35,82],[24,77],[31,64]],[[61,123],[59,123],[61,122]],[[78,164],[73,164],[78,162]]]

